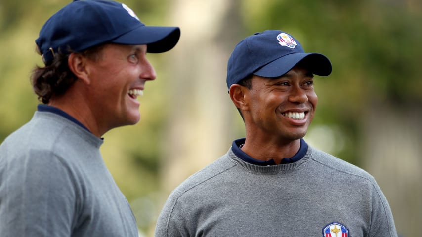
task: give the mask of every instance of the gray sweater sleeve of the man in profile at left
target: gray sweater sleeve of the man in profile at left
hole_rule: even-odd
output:
[[[69,168],[45,151],[3,158],[1,236],[71,236],[76,195]]]

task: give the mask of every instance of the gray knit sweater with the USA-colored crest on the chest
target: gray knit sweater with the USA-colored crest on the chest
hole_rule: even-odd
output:
[[[309,146],[295,163],[226,155],[170,194],[156,237],[397,237],[387,200],[364,170]]]

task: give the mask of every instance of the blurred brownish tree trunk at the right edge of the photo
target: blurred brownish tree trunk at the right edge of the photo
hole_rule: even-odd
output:
[[[387,197],[403,237],[420,236],[422,106],[371,106],[364,124],[363,166]]]

